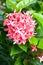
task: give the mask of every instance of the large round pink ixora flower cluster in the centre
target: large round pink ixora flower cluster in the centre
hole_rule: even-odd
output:
[[[32,16],[27,12],[14,12],[7,15],[4,20],[5,31],[8,32],[7,36],[12,39],[16,44],[25,44],[27,39],[34,36],[35,21]]]

